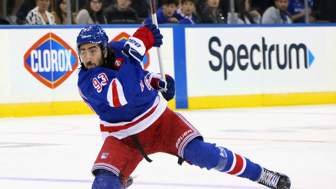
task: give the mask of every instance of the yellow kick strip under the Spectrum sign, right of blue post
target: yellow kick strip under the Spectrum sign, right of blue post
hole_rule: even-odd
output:
[[[243,108],[336,103],[336,92],[188,97],[189,109]]]

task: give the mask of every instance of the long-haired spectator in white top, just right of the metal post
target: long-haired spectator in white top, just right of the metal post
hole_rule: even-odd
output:
[[[261,16],[256,10],[248,12],[250,9],[249,0],[235,0],[235,21],[237,24],[260,23]],[[231,23],[231,13],[227,13],[227,23]]]

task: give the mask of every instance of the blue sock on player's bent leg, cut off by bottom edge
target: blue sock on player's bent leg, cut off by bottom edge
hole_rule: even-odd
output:
[[[121,189],[119,177],[105,169],[100,169],[93,181],[91,189]]]

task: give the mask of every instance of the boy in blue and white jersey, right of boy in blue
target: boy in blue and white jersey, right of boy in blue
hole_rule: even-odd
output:
[[[193,18],[193,12],[196,10],[195,0],[181,0],[180,3],[176,13],[183,17],[183,20],[180,19],[179,22],[181,24],[196,23],[195,18]]]

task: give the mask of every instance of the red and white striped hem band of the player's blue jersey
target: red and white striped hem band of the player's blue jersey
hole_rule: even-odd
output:
[[[161,116],[166,107],[167,101],[158,95],[151,108],[130,122],[109,123],[100,120],[102,140],[104,141],[108,136],[122,139],[145,130]]]

